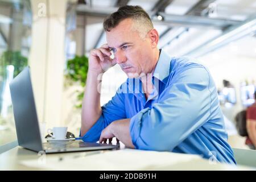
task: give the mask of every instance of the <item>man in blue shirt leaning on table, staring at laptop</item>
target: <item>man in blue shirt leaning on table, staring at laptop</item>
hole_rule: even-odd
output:
[[[139,6],[119,8],[105,19],[104,29],[108,44],[93,49],[89,56],[82,139],[106,142],[116,137],[130,148],[198,154],[236,163],[207,69],[159,50],[158,32]],[[101,107],[99,77],[115,64],[129,78]]]

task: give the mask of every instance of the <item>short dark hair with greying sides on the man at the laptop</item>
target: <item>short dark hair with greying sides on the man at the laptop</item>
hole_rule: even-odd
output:
[[[110,31],[112,28],[118,26],[118,24],[127,18],[134,20],[134,27],[143,36],[148,31],[154,28],[151,22],[150,16],[142,9],[141,6],[122,6],[115,12],[110,14],[104,20],[103,26],[105,31]]]

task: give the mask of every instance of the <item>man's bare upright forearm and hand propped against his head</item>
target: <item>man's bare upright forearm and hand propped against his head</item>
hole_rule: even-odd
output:
[[[115,65],[115,60],[110,59],[107,44],[98,49],[93,49],[89,56],[89,68],[86,80],[84,100],[82,101],[81,136],[84,135],[100,118],[100,90],[102,74]]]

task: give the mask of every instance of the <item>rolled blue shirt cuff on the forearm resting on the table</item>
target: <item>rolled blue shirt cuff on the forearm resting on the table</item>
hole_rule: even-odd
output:
[[[135,148],[139,148],[137,140],[140,137],[141,134],[141,123],[142,123],[142,117],[147,111],[150,110],[149,108],[143,109],[139,111],[136,115],[134,115],[130,120],[130,135],[131,135],[131,141],[133,142],[133,145]]]

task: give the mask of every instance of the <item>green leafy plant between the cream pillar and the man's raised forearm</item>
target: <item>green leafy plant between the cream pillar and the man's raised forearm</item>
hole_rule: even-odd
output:
[[[86,56],[75,56],[74,59],[68,60],[66,76],[68,80],[72,82],[79,82],[84,87],[88,73],[88,57]],[[77,90],[77,100],[79,104],[77,108],[82,107],[82,98],[84,97],[83,91]]]

